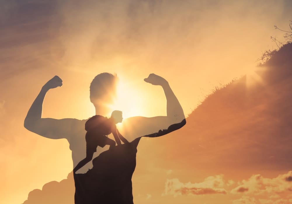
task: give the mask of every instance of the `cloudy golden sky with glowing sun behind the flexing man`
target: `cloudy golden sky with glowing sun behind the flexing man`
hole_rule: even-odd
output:
[[[43,117],[87,119],[94,115],[89,85],[102,72],[117,73],[120,79],[114,108],[122,110],[124,117],[166,115],[161,87],[143,81],[150,73],[168,80],[187,116],[215,86],[252,73],[261,53],[276,48],[270,36],[281,39],[282,33],[273,26],[287,28],[292,8],[284,0],[26,0],[0,1],[0,5],[0,203],[9,204],[23,203],[30,191],[60,181],[72,170],[66,140],[42,138],[23,127],[30,105],[54,75],[60,76],[63,85],[47,93]],[[138,149],[137,165],[147,160],[147,151],[143,145]],[[174,163],[181,160],[174,158]],[[214,199],[252,203],[250,195],[229,192],[256,184],[258,192],[291,176],[291,169],[258,173],[247,167],[239,176],[236,169],[225,166],[223,177],[220,170],[187,166],[172,170],[156,165],[153,162],[146,170],[137,166],[133,176],[137,203],[212,203]],[[155,176],[162,172],[164,177]],[[150,193],[151,185],[139,186],[151,173],[157,177],[156,194]],[[255,184],[252,175],[257,174],[262,177]],[[219,191],[229,189],[228,196],[174,195],[173,189],[183,185],[211,188],[215,181]],[[270,202],[269,197],[260,199]]]

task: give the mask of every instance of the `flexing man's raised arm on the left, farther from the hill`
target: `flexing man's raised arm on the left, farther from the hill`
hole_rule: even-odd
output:
[[[72,118],[53,119],[41,118],[43,102],[49,89],[62,86],[62,80],[54,76],[41,89],[39,95],[32,103],[27,116],[24,120],[24,127],[40,136],[51,139],[60,139],[68,137],[68,129],[74,127],[79,120]],[[68,138],[67,138],[68,139]]]

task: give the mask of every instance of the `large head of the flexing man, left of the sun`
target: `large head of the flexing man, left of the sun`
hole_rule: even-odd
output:
[[[95,107],[112,103],[116,97],[117,75],[101,73],[90,84],[90,101]]]

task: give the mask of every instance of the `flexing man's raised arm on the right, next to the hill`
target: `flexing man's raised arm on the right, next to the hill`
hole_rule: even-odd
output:
[[[152,85],[159,85],[163,88],[166,96],[166,116],[156,116],[150,118],[136,116],[125,119],[123,122],[123,133],[124,136],[126,136],[126,138],[130,141],[139,136],[156,133],[160,129],[168,129],[168,127],[172,124],[180,123],[182,126],[185,124],[185,114],[183,112],[183,108],[174,95],[168,82],[156,74],[150,74],[148,78],[144,79],[144,81]],[[153,98],[152,100],[157,99]]]

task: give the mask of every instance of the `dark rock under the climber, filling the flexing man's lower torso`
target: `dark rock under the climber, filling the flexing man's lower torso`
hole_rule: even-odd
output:
[[[93,159],[93,168],[85,174],[74,174],[75,204],[133,203],[136,152],[135,145],[115,146]]]

